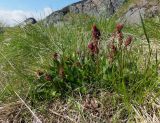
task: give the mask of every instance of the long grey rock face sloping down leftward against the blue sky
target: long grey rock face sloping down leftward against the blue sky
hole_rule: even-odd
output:
[[[44,22],[45,24],[57,23],[61,21],[67,13],[84,13],[93,16],[103,15],[105,17],[110,17],[124,1],[125,0],[82,0],[62,10],[53,12]]]

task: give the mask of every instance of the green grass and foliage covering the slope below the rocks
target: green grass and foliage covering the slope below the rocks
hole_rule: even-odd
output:
[[[143,106],[149,114],[151,105],[159,99],[159,54],[155,52],[159,49],[152,49],[152,40],[160,39],[155,33],[155,30],[160,31],[160,23],[146,20],[143,26],[125,25],[123,41],[130,35],[133,40],[126,48],[119,46],[116,37],[117,50],[110,62],[108,56],[113,49],[109,44],[115,20],[85,15],[70,19],[63,26],[46,28],[38,23],[25,28],[8,28],[0,34],[0,103],[16,101],[17,92],[44,117],[50,110],[46,109],[50,103],[58,102],[59,107],[63,107],[62,102],[66,102],[70,107],[68,112],[74,109],[83,122],[89,121],[90,113],[95,110],[101,112],[97,122],[106,120],[105,113],[110,110],[113,122],[134,121],[138,111],[143,119]],[[94,55],[88,49],[93,24],[101,31],[99,53]],[[144,31],[147,40],[143,38]],[[54,53],[58,54],[58,60],[54,59]],[[43,72],[38,78],[37,71]],[[157,109],[155,113],[159,119],[158,112]]]

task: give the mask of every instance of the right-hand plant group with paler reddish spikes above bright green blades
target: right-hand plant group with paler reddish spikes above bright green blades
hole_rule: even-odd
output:
[[[108,63],[106,67],[105,84],[122,95],[126,103],[132,101],[143,102],[146,91],[154,91],[158,84],[155,64],[150,62],[150,67],[145,66],[148,61],[143,61],[143,53],[133,45],[133,37],[123,35],[124,25],[117,24],[111,42],[108,45]],[[154,83],[154,84],[153,84]],[[144,96],[145,95],[145,96]]]

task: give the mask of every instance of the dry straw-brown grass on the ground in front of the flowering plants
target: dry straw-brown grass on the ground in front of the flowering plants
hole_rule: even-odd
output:
[[[87,95],[77,99],[55,100],[52,103],[32,107],[43,123],[159,123],[160,99],[152,94],[146,97],[145,104],[132,106],[131,117],[125,116],[124,104],[118,95],[101,92],[94,97]],[[31,106],[29,106],[31,107]],[[43,111],[40,111],[41,108]],[[31,112],[21,102],[0,107],[0,122],[34,122]]]

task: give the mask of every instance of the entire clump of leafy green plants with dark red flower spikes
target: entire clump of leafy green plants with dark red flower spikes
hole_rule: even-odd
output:
[[[116,92],[126,103],[142,95],[156,74],[153,74],[152,67],[146,72],[145,67],[139,64],[133,37],[125,36],[123,28],[123,24],[117,24],[111,41],[105,47],[107,52],[102,48],[102,33],[96,25],[92,27],[87,53],[76,51],[64,55],[55,52],[50,66],[36,72],[32,98],[44,100],[66,97],[72,92],[87,93],[88,85]]]

